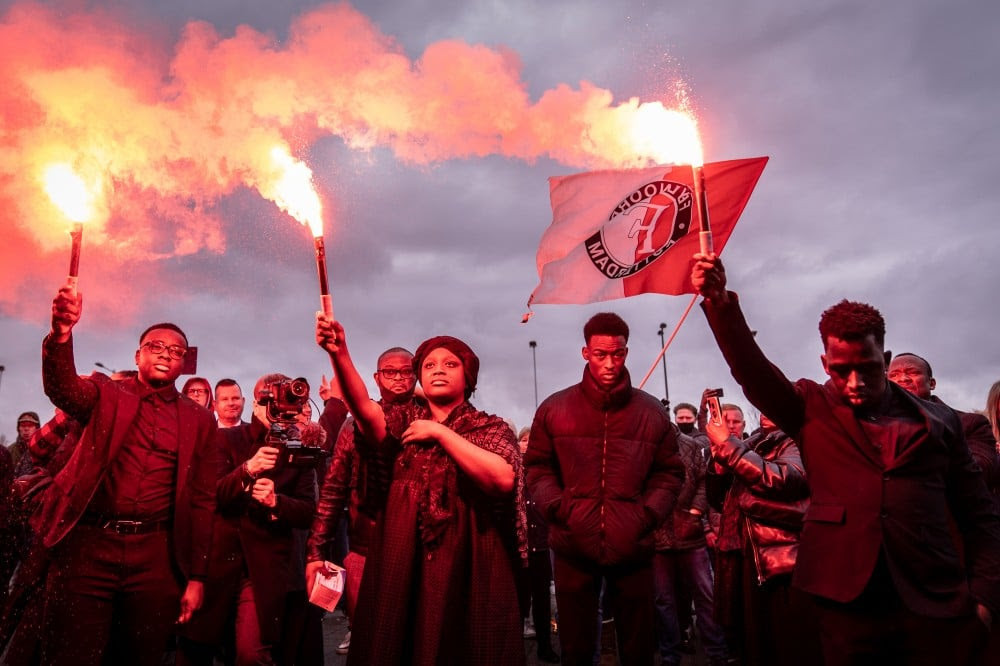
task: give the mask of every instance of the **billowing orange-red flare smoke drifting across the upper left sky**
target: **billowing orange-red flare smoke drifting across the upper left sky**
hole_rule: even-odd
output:
[[[55,285],[65,270],[69,225],[39,182],[52,162],[103,183],[102,214],[84,236],[81,291],[93,306],[102,284],[109,301],[129,301],[122,270],[224,252],[221,221],[204,211],[241,186],[266,193],[275,145],[302,155],[336,135],[419,164],[654,159],[623,131],[637,100],[615,106],[609,91],[582,83],[533,102],[515,53],[449,40],[410,60],[347,4],[299,16],[283,42],[246,26],[222,38],[204,22],[189,23],[172,49],[161,41],[100,10],[24,3],[3,16],[0,309],[23,314],[19,289],[40,276]]]

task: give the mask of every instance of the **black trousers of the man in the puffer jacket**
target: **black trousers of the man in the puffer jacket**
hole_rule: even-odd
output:
[[[591,666],[597,649],[597,604],[601,580],[605,602],[615,619],[618,652],[625,666],[652,666],[653,567],[650,561],[600,566],[556,554],[556,603],[562,663]]]

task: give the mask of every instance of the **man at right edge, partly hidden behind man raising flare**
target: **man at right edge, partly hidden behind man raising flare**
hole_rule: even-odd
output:
[[[930,400],[943,405],[941,399],[934,395],[937,380],[931,370],[931,364],[921,356],[911,352],[903,352],[889,363],[889,381],[900,388],[909,391],[921,400]],[[965,442],[969,445],[972,458],[983,471],[986,486],[996,491],[996,478],[1000,474],[1000,460],[997,459],[996,438],[990,427],[989,420],[982,414],[955,410],[962,422]]]

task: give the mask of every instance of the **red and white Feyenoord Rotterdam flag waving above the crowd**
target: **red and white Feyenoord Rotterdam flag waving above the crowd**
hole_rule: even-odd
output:
[[[721,252],[766,157],[705,165],[715,251]],[[692,294],[698,207],[690,166],[592,171],[549,179],[552,224],[538,245],[528,305],[592,303],[653,292]]]

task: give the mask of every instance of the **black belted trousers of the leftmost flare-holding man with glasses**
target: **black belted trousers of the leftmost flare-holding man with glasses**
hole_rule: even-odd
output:
[[[70,532],[46,580],[43,666],[99,666],[106,654],[107,663],[159,666],[180,614],[169,536]]]

